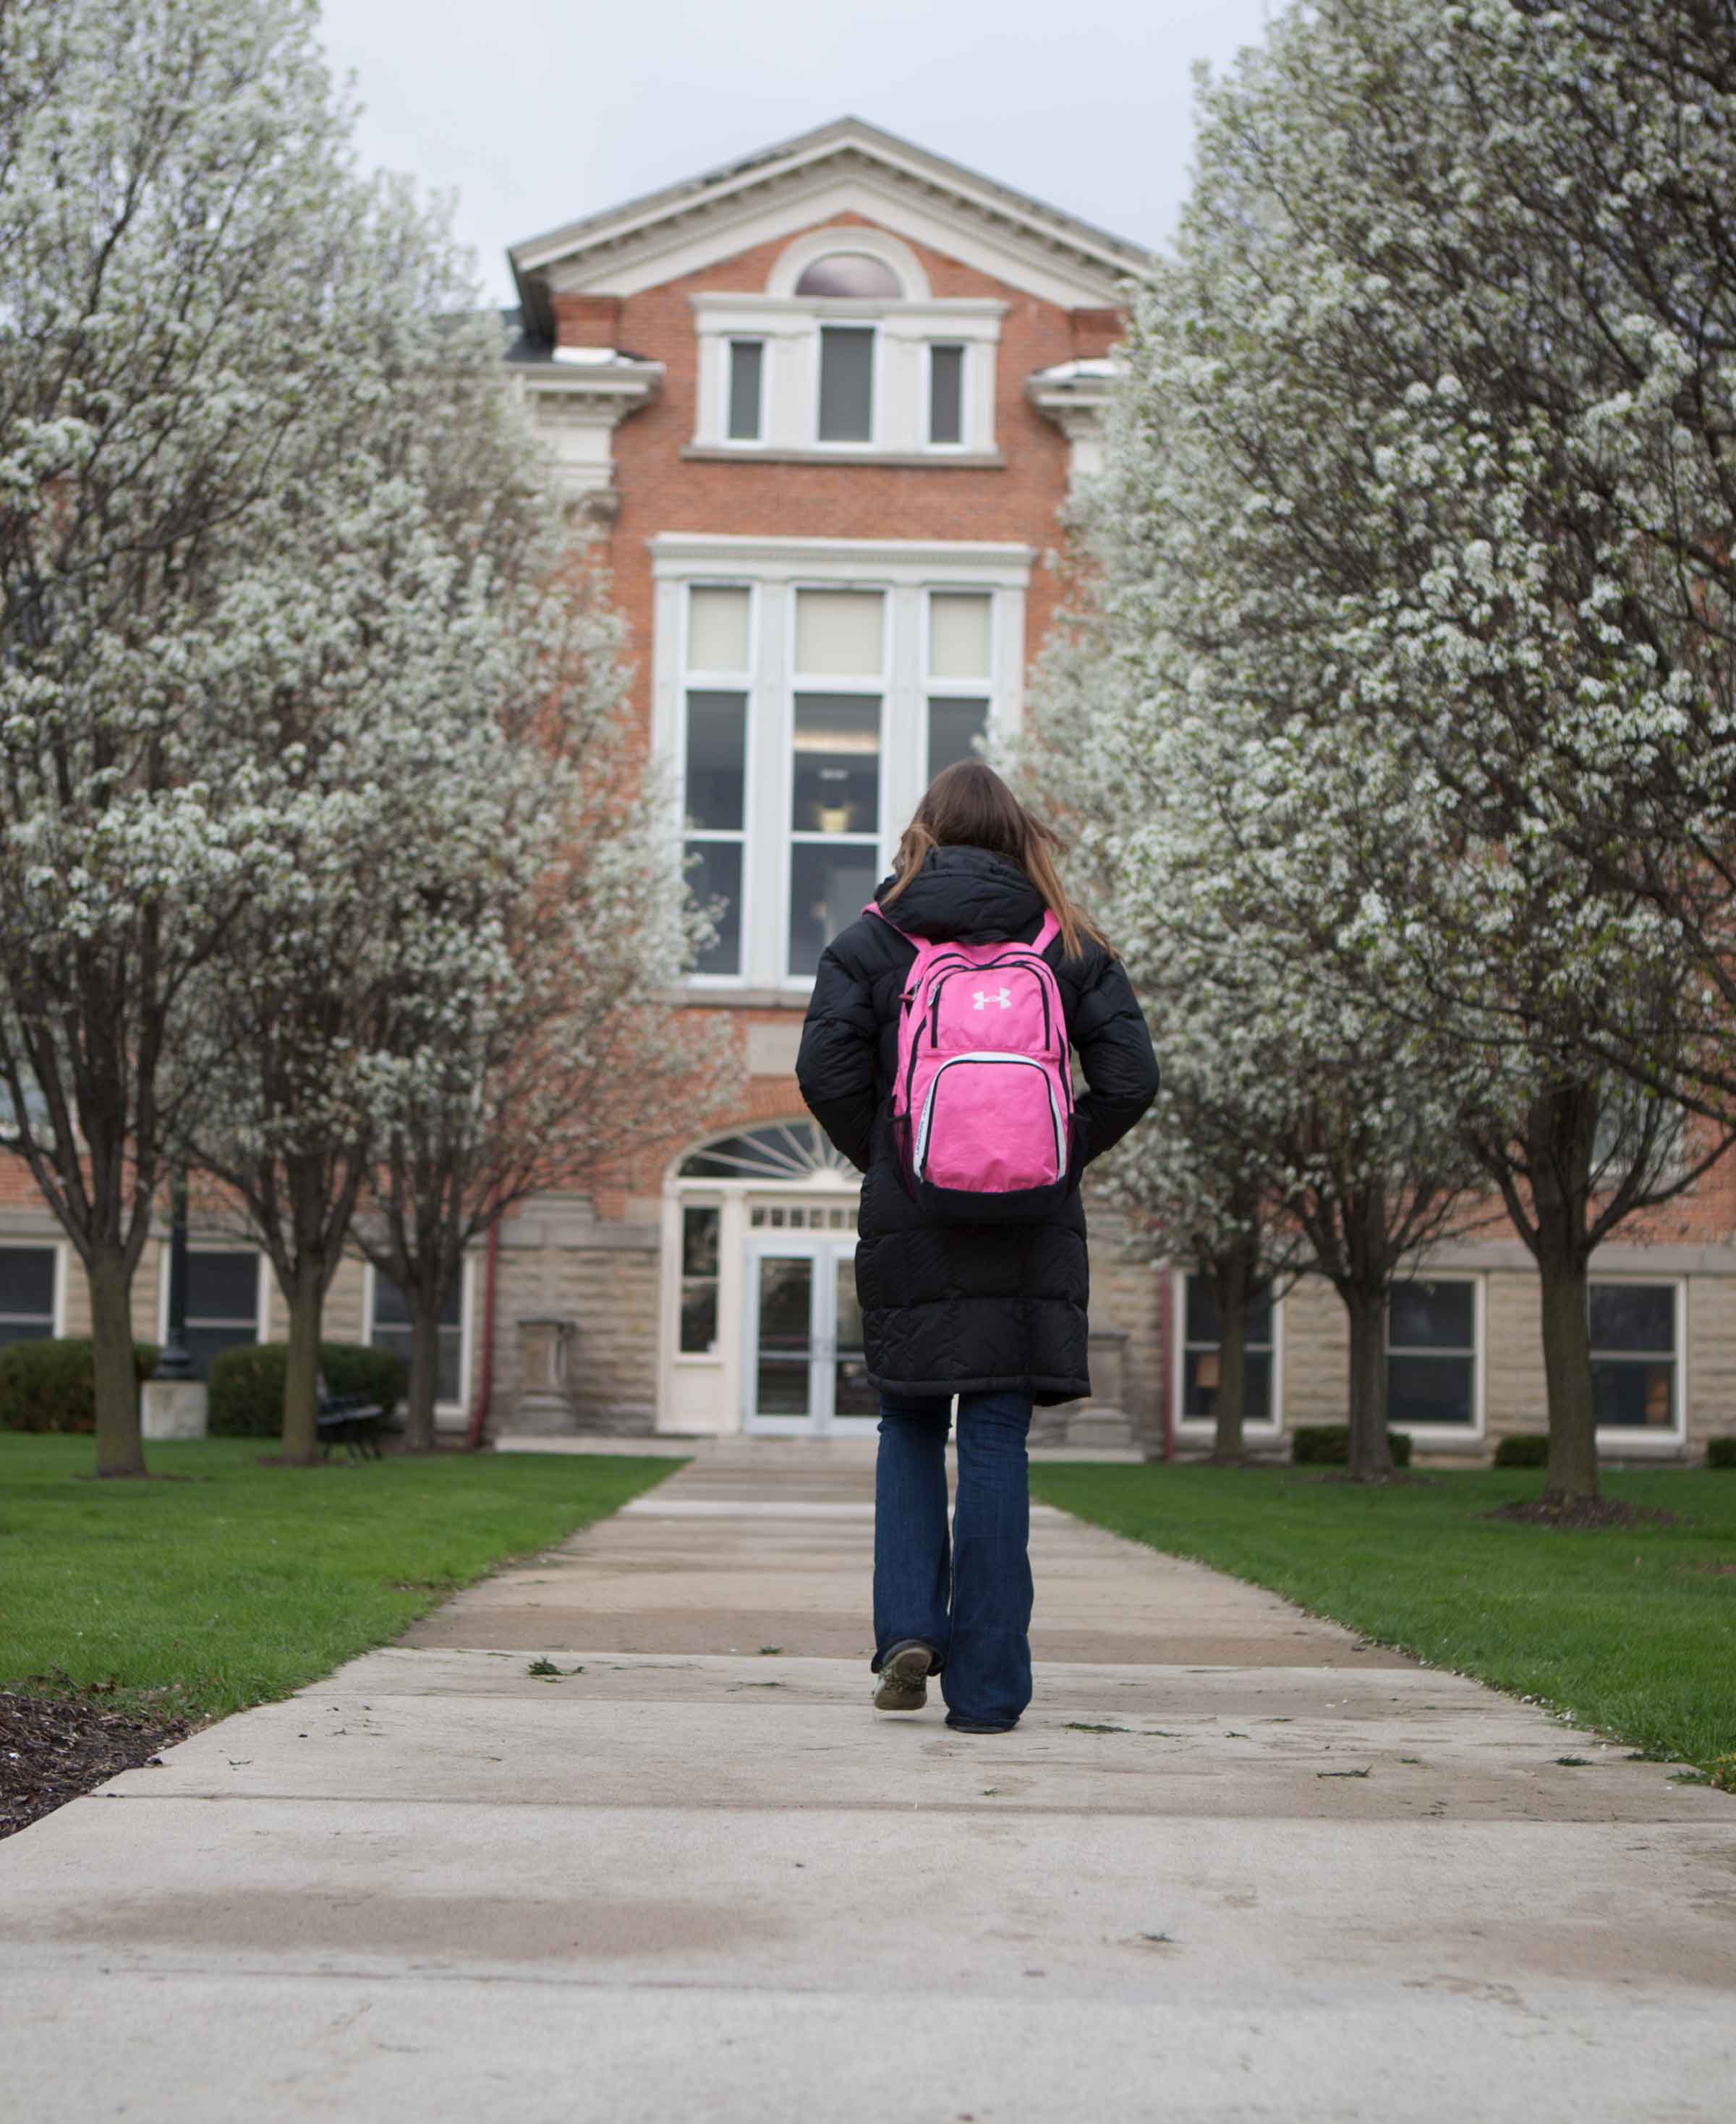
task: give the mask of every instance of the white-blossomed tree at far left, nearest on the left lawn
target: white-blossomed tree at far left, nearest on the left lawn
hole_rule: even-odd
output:
[[[355,359],[355,204],[295,0],[0,6],[0,1083],[89,1279],[98,1472],[136,1474],[164,1058],[263,818],[212,601]]]

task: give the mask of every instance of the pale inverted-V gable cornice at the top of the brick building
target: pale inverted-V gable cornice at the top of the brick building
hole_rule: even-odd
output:
[[[635,295],[837,217],[929,244],[1043,302],[1120,299],[1139,244],[863,119],[835,119],[703,176],[514,244],[527,312],[550,293]]]

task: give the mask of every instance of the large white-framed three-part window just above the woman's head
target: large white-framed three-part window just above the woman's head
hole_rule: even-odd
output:
[[[682,841],[701,979],[812,979],[926,784],[997,701],[997,593],[710,584],[682,593]]]

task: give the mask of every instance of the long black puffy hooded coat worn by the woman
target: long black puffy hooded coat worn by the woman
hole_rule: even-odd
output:
[[[884,901],[886,879],[875,892]],[[1043,901],[1022,869],[980,847],[933,850],[888,922],[863,915],[820,958],[801,1028],[801,1096],[863,1168],[856,1296],[869,1378],[895,1393],[1011,1387],[1033,1402],[1090,1393],[1086,1213],[1077,1189],[1039,1223],[933,1223],[903,1185],[888,1087],[912,930],[958,943],[1031,943]],[[1082,1153],[1133,1128],[1158,1092],[1152,1037],[1120,960],[1096,943],[1045,954],[1086,1087]]]

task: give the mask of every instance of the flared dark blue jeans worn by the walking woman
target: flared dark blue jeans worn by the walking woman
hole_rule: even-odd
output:
[[[941,1661],[948,1725],[1009,1727],[1031,1701],[1031,1395],[958,1395],[958,1504],[946,1525],[946,1395],[880,1395],[873,1665],[901,1638]]]

